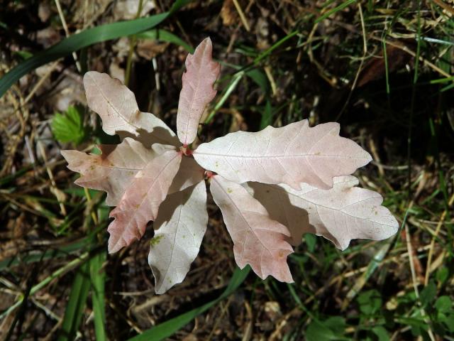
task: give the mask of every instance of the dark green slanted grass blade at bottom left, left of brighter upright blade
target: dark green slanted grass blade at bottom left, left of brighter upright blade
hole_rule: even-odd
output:
[[[66,306],[63,317],[62,328],[58,341],[74,340],[77,329],[84,315],[90,288],[89,264],[84,263],[77,270],[74,282],[72,283],[70,301]]]

